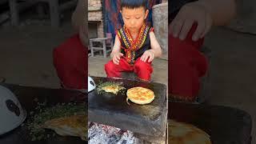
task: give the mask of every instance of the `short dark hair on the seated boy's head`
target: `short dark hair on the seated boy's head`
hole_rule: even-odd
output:
[[[148,0],[121,0],[121,10],[123,7],[136,9],[140,6],[143,6],[146,10]]]

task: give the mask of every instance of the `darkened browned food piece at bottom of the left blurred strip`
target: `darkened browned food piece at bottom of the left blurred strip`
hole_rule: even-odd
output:
[[[83,114],[65,118],[54,118],[46,121],[42,127],[54,130],[62,136],[76,136],[86,141],[87,119],[86,115]]]

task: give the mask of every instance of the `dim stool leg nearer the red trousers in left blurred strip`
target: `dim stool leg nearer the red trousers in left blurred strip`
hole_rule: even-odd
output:
[[[51,22],[51,26],[58,27],[58,26],[60,26],[58,0],[49,0],[49,2],[50,2],[50,22]]]

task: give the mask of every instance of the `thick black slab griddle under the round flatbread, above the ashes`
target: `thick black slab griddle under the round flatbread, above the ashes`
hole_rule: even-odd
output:
[[[126,90],[142,86],[154,91],[154,101],[147,105],[126,103],[126,90],[117,95],[98,93],[93,90],[88,94],[88,116],[90,122],[115,126],[123,130],[147,136],[162,137],[166,130],[167,98],[166,85],[156,82],[138,82],[118,78],[92,77],[94,82],[122,82]]]

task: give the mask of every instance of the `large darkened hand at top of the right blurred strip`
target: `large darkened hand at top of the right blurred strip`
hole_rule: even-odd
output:
[[[192,36],[193,41],[203,38],[213,25],[213,18],[206,6],[198,2],[190,2],[182,6],[178,14],[170,24],[170,30],[174,38],[184,40],[194,22],[198,24]]]

